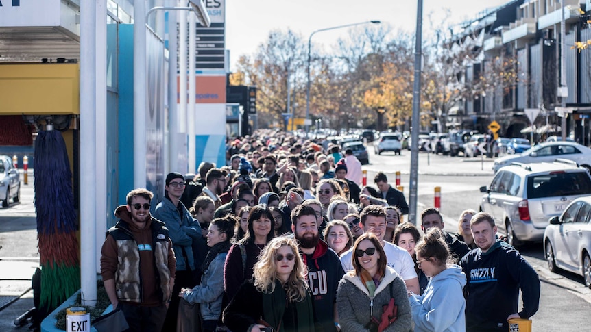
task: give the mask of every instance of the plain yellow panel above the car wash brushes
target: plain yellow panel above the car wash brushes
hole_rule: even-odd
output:
[[[0,64],[0,115],[80,114],[78,64]]]

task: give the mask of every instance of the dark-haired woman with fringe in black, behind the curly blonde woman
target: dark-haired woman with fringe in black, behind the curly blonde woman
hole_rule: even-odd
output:
[[[232,245],[224,265],[224,292],[231,301],[240,285],[252,277],[252,268],[263,248],[275,237],[275,220],[265,204],[255,205],[248,214],[248,231]]]

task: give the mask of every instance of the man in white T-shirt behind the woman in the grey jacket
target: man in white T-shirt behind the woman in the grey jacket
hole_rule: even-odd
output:
[[[381,205],[367,205],[361,211],[361,227],[363,231],[374,233],[380,240],[386,253],[387,264],[394,268],[402,280],[407,284],[407,290],[419,294],[419,279],[415,271],[415,263],[411,255],[405,249],[384,240],[386,233],[386,210]],[[349,249],[341,255],[341,264],[346,271],[353,270],[353,249]]]

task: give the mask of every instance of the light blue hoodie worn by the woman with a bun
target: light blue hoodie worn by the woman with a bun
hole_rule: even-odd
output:
[[[466,331],[464,285],[466,274],[460,266],[452,265],[431,278],[422,296],[409,297],[415,332]]]

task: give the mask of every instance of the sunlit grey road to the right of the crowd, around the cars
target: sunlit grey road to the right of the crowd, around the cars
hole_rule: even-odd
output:
[[[373,183],[378,171],[386,173],[389,182],[395,183],[395,173],[402,173],[401,184],[405,196],[409,195],[411,152],[402,155],[383,153],[375,155],[373,146],[368,146],[370,165],[367,169],[367,183]],[[434,188],[441,187],[445,229],[457,231],[457,220],[464,209],[478,211],[482,197],[481,186],[488,186],[494,177],[492,159],[481,157],[464,158],[419,154],[418,163],[418,214],[425,207],[432,207]],[[570,272],[553,273],[546,268],[542,244],[529,244],[520,253],[540,275],[542,296],[540,309],[533,316],[533,331],[589,331],[591,316],[591,290],[585,287],[583,277]],[[494,304],[491,305],[494,309]]]

